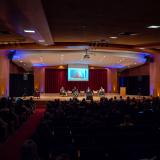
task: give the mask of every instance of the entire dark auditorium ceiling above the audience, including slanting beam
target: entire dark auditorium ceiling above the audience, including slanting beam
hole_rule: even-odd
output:
[[[144,45],[160,42],[160,1],[148,0],[1,0],[0,41],[44,39],[54,42],[106,41]],[[36,34],[25,34],[34,29]],[[4,32],[5,31],[5,32]],[[131,32],[131,36],[121,34]],[[17,37],[15,37],[17,35]],[[109,37],[118,37],[112,39]],[[14,41],[13,40],[13,41]]]

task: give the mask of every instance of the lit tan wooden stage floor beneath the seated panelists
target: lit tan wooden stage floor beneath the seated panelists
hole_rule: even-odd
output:
[[[114,98],[114,96],[117,97],[117,99],[120,98],[120,94],[119,93],[106,93],[105,97],[107,98]],[[124,99],[129,96],[130,98],[142,98],[144,96],[137,96],[137,95],[126,95],[125,97],[123,97]],[[146,97],[146,96],[145,96]],[[26,97],[26,99],[28,99],[30,97]],[[32,97],[35,101],[53,101],[55,99],[60,99],[61,101],[68,101],[70,98],[73,98],[71,95],[70,96],[65,96],[62,97],[59,95],[59,93],[41,93],[40,98],[36,98],[36,97]],[[85,95],[81,95],[77,97],[78,100],[82,100],[83,98],[86,98]],[[93,96],[93,100],[94,101],[99,101],[100,97],[98,95]]]

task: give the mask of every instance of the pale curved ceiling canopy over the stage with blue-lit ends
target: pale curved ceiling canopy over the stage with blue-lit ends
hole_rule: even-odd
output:
[[[85,55],[88,58],[85,58]],[[125,69],[144,64],[145,56],[145,53],[116,50],[17,50],[13,62],[27,70],[31,70],[32,67],[67,64]]]

